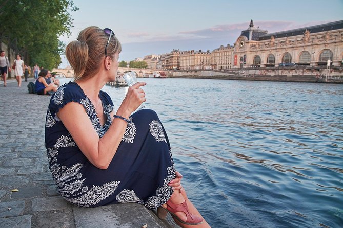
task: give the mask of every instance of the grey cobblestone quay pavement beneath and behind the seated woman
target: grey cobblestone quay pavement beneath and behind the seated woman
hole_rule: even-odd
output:
[[[27,84],[0,82],[1,227],[178,227],[136,203],[78,208],[59,196],[44,144],[50,96],[29,94]]]

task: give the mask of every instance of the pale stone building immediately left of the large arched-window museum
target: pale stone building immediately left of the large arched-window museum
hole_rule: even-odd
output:
[[[229,44],[224,47],[214,49],[211,53],[211,65],[214,70],[230,69],[233,63],[233,46]]]

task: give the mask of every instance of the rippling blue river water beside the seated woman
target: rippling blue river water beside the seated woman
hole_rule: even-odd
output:
[[[139,80],[212,227],[343,227],[343,85]]]

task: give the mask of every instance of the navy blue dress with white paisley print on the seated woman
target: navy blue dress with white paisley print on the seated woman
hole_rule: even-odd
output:
[[[79,207],[137,202],[149,209],[164,204],[173,190],[175,166],[167,134],[156,113],[142,109],[130,116],[122,142],[107,169],[93,166],[80,151],[56,113],[69,102],[85,108],[99,138],[109,129],[113,102],[100,91],[104,126],[95,108],[75,82],[60,86],[51,97],[45,126],[49,168],[60,195]],[[72,113],[71,113],[72,115]]]

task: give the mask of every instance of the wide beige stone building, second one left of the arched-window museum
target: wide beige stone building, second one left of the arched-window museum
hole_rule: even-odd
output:
[[[210,70],[211,52],[199,51],[183,51],[180,52],[180,70]]]

